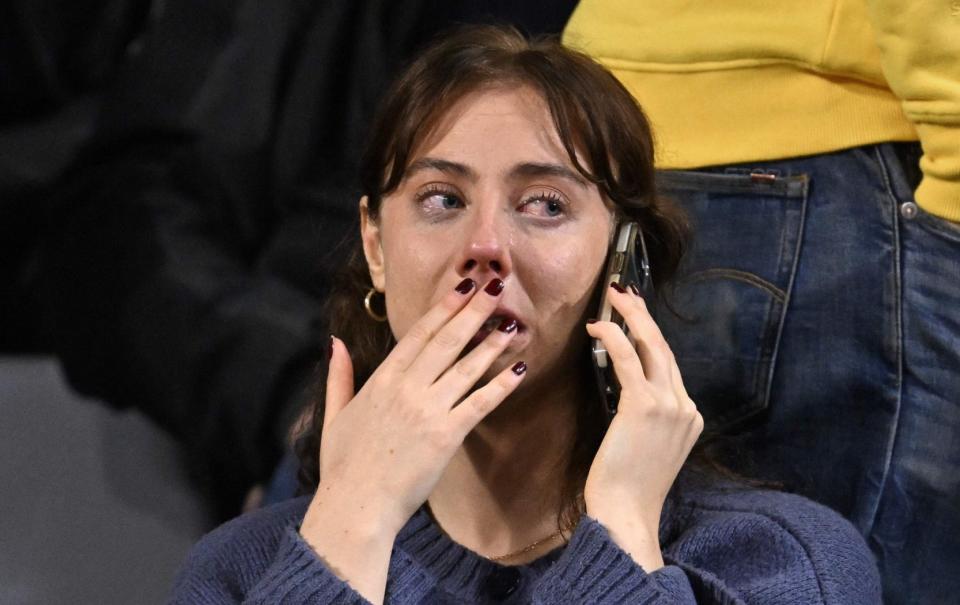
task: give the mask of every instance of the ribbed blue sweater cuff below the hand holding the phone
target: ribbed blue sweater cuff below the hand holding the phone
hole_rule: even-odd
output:
[[[667,565],[648,574],[598,521],[583,517],[557,562],[541,578],[542,603],[696,603],[686,575]]]

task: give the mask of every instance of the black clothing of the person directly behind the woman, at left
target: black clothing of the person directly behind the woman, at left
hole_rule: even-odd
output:
[[[559,32],[574,4],[157,4],[50,214],[45,299],[71,383],[181,438],[235,513],[306,401],[391,75],[451,22]]]

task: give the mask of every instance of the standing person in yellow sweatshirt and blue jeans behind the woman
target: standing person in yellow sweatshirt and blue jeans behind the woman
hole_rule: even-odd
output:
[[[848,516],[887,602],[954,601],[960,1],[582,0],[564,42],[690,213],[658,321],[731,464]]]

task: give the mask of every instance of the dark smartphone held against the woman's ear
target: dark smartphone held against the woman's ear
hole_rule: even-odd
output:
[[[653,293],[653,281],[650,275],[650,261],[647,256],[647,244],[643,240],[643,232],[635,222],[621,223],[617,226],[616,236],[610,243],[607,253],[607,267],[604,279],[600,282],[600,310],[597,320],[612,321],[620,326],[624,334],[629,336],[623,317],[610,304],[608,294],[609,285],[617,283],[624,288],[629,284],[636,284],[640,294],[649,300]],[[600,399],[611,420],[617,413],[617,404],[620,401],[620,383],[613,372],[613,362],[607,355],[607,349],[599,339],[594,338],[591,343],[591,359],[597,375],[597,386],[600,389]]]

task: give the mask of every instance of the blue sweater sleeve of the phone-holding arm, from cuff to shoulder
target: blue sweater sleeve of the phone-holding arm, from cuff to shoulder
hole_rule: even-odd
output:
[[[645,572],[585,517],[534,603],[875,605],[880,579],[856,529],[809,500],[756,491],[696,505]]]

